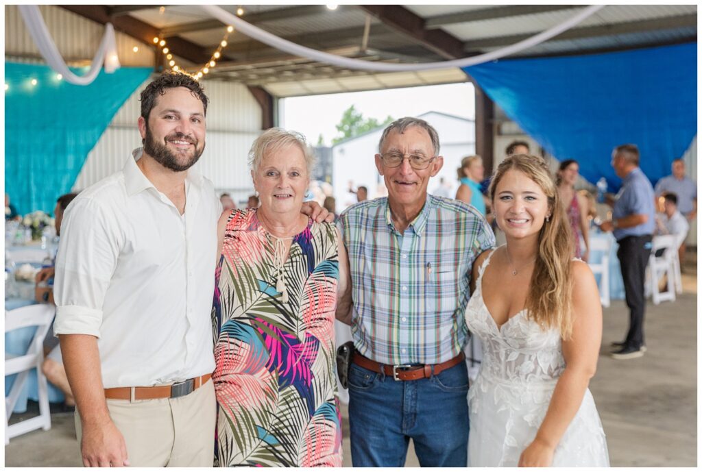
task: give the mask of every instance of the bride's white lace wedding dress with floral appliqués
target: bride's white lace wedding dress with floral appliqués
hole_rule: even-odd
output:
[[[468,391],[468,466],[514,467],[541,426],[565,362],[559,331],[542,330],[525,311],[498,328],[482,297],[482,275],[490,257],[480,267],[465,310],[468,329],[483,346],[480,372]],[[552,466],[609,466],[590,389],[555,450]]]

